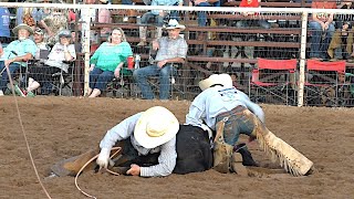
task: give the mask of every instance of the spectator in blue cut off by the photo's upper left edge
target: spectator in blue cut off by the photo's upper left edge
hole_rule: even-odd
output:
[[[0,43],[2,46],[6,46],[10,43],[10,12],[8,8],[0,7]]]

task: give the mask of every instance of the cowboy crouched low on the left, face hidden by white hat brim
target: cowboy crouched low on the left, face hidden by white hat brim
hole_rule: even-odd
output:
[[[127,140],[135,156],[158,155],[158,164],[154,166],[131,165],[128,175],[142,177],[168,176],[176,166],[176,134],[179,123],[176,116],[167,108],[154,106],[145,112],[137,113],[110,129],[100,143],[101,153],[96,164],[101,168],[107,168],[110,151],[119,140]]]

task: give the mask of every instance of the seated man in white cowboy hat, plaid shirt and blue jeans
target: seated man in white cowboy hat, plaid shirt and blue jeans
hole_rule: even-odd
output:
[[[177,20],[169,20],[165,27],[168,36],[153,41],[153,50],[157,51],[155,64],[133,72],[134,80],[142,91],[143,98],[153,100],[155,97],[147,82],[150,76],[159,76],[159,100],[169,98],[170,76],[175,72],[173,63],[183,63],[187,56],[187,42],[179,35],[180,31],[185,30],[185,28]]]

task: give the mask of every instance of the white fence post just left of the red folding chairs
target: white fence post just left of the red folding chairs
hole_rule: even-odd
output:
[[[303,106],[304,81],[305,81],[305,60],[306,60],[306,38],[308,38],[308,12],[302,12],[301,17],[301,48],[300,48],[300,76],[298,86],[298,106]]]

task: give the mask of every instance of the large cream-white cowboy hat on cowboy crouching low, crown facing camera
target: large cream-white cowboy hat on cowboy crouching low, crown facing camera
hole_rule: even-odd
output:
[[[155,148],[173,139],[179,129],[176,116],[163,106],[145,111],[137,121],[134,137],[145,148]]]

